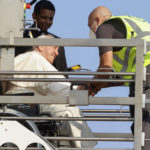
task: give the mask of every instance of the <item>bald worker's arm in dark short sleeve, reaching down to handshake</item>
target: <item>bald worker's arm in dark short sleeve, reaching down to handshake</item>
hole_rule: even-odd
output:
[[[98,27],[96,32],[96,37],[98,39],[112,39],[113,30],[110,24],[103,24]],[[113,67],[113,47],[112,46],[102,46],[99,47],[99,55],[100,55],[100,64],[97,69],[97,72],[111,72]],[[106,68],[106,69],[105,69]],[[110,69],[109,69],[110,68]],[[94,77],[95,79],[107,79],[109,75],[97,75]],[[96,87],[99,85],[99,88],[106,86],[106,83],[92,83],[91,87]]]

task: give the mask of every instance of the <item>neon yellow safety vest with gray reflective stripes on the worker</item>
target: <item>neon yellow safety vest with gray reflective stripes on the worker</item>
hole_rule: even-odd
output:
[[[142,29],[134,22],[132,17],[115,17],[121,19],[125,24],[127,30],[127,39],[131,39],[132,35],[130,32],[134,32],[134,39],[146,39],[150,41],[150,24],[146,23],[146,28],[149,27],[148,31],[142,31]],[[138,18],[137,18],[138,19]],[[137,20],[138,22],[138,20]],[[142,21],[141,21],[142,22]],[[144,23],[142,24],[144,26]],[[142,28],[144,28],[142,26]],[[147,51],[144,57],[144,66],[150,64],[150,50]],[[120,51],[113,52],[113,68],[116,72],[135,72],[136,64],[136,47],[123,47]],[[124,79],[131,79],[131,76],[124,76]]]

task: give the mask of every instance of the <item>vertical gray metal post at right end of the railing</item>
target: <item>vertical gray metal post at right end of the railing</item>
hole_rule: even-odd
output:
[[[136,47],[136,76],[135,76],[135,118],[134,118],[134,150],[141,150],[142,146],[142,105],[144,80],[144,47],[142,41]]]

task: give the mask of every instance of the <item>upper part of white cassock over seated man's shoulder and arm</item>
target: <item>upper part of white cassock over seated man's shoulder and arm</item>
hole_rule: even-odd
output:
[[[15,71],[58,71],[36,51],[18,55]],[[15,75],[16,78],[65,78],[63,75]],[[12,82],[21,87],[34,88],[43,95],[69,95],[70,82]]]

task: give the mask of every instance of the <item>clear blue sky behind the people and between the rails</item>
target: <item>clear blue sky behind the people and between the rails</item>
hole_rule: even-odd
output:
[[[56,14],[49,32],[62,38],[89,38],[88,15],[97,6],[108,7],[114,16],[136,16],[150,22],[150,0],[51,0],[51,2],[56,7]],[[27,11],[28,19],[31,18],[31,13],[32,10]],[[83,68],[92,71],[97,69],[98,48],[66,47],[65,50],[68,66],[80,64]],[[100,91],[96,96],[125,97],[128,96],[128,88],[108,88]],[[95,106],[95,108],[104,109],[106,106]],[[109,106],[109,108],[118,107]],[[130,132],[130,124],[126,122],[90,122],[92,130],[96,132]],[[97,147],[129,148],[132,146],[131,143],[99,142]]]

